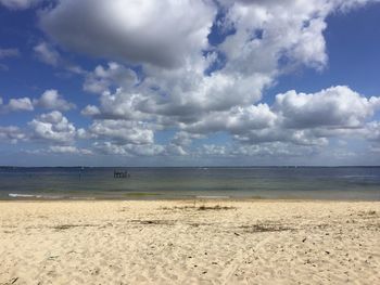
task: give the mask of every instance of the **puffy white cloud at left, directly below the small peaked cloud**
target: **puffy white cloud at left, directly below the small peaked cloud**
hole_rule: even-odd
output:
[[[76,128],[59,111],[42,114],[28,122],[31,139],[60,144],[71,144],[76,137]]]

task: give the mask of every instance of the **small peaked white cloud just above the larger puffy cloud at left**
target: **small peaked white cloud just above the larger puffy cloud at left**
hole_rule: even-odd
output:
[[[56,90],[46,90],[37,100],[33,100],[35,106],[46,109],[68,111],[75,108],[75,104],[64,100]]]

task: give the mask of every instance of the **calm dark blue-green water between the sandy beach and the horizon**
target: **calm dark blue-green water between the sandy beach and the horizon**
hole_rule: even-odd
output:
[[[0,199],[194,197],[380,200],[380,167],[0,167]]]

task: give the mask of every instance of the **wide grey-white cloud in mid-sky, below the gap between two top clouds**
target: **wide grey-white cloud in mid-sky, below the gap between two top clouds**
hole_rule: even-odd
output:
[[[239,78],[221,73],[204,77],[203,74],[179,73],[163,80],[162,85],[155,79],[147,79],[148,82],[160,88],[145,90],[150,96],[140,104],[140,111],[173,116],[179,121],[193,121],[213,111],[257,102],[270,78],[261,75]]]

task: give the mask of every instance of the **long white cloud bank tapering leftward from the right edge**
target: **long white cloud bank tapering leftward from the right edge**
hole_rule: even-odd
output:
[[[379,102],[380,98],[367,99],[345,86],[309,94],[289,91],[278,94],[273,106],[257,104],[214,112],[180,128],[189,133],[228,132],[243,144],[322,146],[331,137],[364,135]]]

